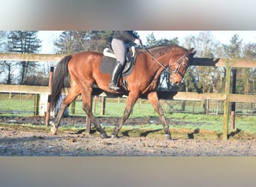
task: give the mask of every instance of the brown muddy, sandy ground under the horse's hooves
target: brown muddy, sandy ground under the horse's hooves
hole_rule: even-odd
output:
[[[217,136],[197,138],[189,132],[178,136],[177,132],[171,131],[173,140],[169,141],[161,135],[161,130],[148,130],[137,136],[123,132],[120,138],[101,139],[97,132],[86,135],[85,130],[79,129],[60,130],[58,135],[50,136],[49,128],[38,126],[44,120],[44,117],[1,117],[0,156],[256,156],[255,135],[234,135],[223,141]],[[108,126],[118,123],[119,118],[99,120]],[[34,127],[28,128],[22,125],[24,123],[31,123]],[[157,118],[127,120],[129,125],[143,123],[159,121]],[[85,118],[65,117],[61,125],[82,127]]]

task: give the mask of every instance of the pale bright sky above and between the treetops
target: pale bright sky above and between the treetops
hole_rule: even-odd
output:
[[[53,42],[59,37],[62,31],[39,31],[38,37],[42,40],[42,54],[52,54],[54,52]],[[156,40],[172,39],[178,37],[180,46],[183,45],[185,37],[197,36],[201,31],[138,31],[142,43],[146,43],[147,36],[153,32]],[[213,40],[216,42],[228,44],[234,34],[238,34],[243,43],[256,43],[256,31],[211,31]]]

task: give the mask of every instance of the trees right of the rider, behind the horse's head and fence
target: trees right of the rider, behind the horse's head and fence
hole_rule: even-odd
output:
[[[147,36],[146,46],[161,44],[180,45],[177,37],[166,40],[156,40],[153,33]],[[222,44],[214,40],[210,31],[201,31],[197,36],[185,38],[183,46],[187,49],[194,47],[199,58],[246,58],[256,59],[256,43],[243,43],[238,34],[234,34],[230,43]],[[198,93],[222,93],[225,89],[225,67],[189,67],[183,82],[178,88],[168,81],[169,73],[162,73],[162,89],[177,89]],[[254,94],[256,91],[256,68],[237,68],[237,93]]]

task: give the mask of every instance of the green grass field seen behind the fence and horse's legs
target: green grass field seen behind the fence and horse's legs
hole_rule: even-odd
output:
[[[125,98],[107,98],[104,117],[121,117],[125,108],[125,101]],[[180,111],[180,101],[165,101],[164,103],[163,100],[161,100],[161,103],[165,110],[165,117],[170,121],[169,126],[171,129],[200,129],[201,131],[222,132],[223,115],[203,114],[204,108],[201,106],[201,102],[186,102],[186,109],[184,111]],[[103,117],[101,114],[100,98],[97,99],[97,102],[93,102],[93,112],[96,117]],[[82,101],[77,99],[75,113],[69,113],[70,116],[85,117],[85,112],[82,110]],[[16,94],[10,97],[9,94],[0,94],[0,117],[31,116],[33,114],[33,95]],[[150,119],[150,117],[158,117],[158,115],[146,99],[139,99],[129,118],[135,117],[146,117]],[[178,121],[179,123],[172,123],[172,121]],[[255,115],[236,115],[236,128],[241,132],[256,134],[255,121]],[[140,126],[140,128],[159,129],[162,128],[162,126],[155,123],[147,123]]]

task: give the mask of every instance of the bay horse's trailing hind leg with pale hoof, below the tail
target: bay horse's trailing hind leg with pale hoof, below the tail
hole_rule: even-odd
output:
[[[76,97],[79,95],[79,93],[80,92],[78,89],[70,90],[70,92],[67,94],[66,98],[61,102],[61,107],[60,107],[60,110],[58,111],[58,115],[57,115],[57,117],[55,117],[54,123],[52,123],[51,131],[50,131],[51,135],[55,135],[57,133],[58,126],[61,123],[61,118],[64,114],[64,111],[70,105],[70,103],[73,102],[74,99],[76,99]]]

